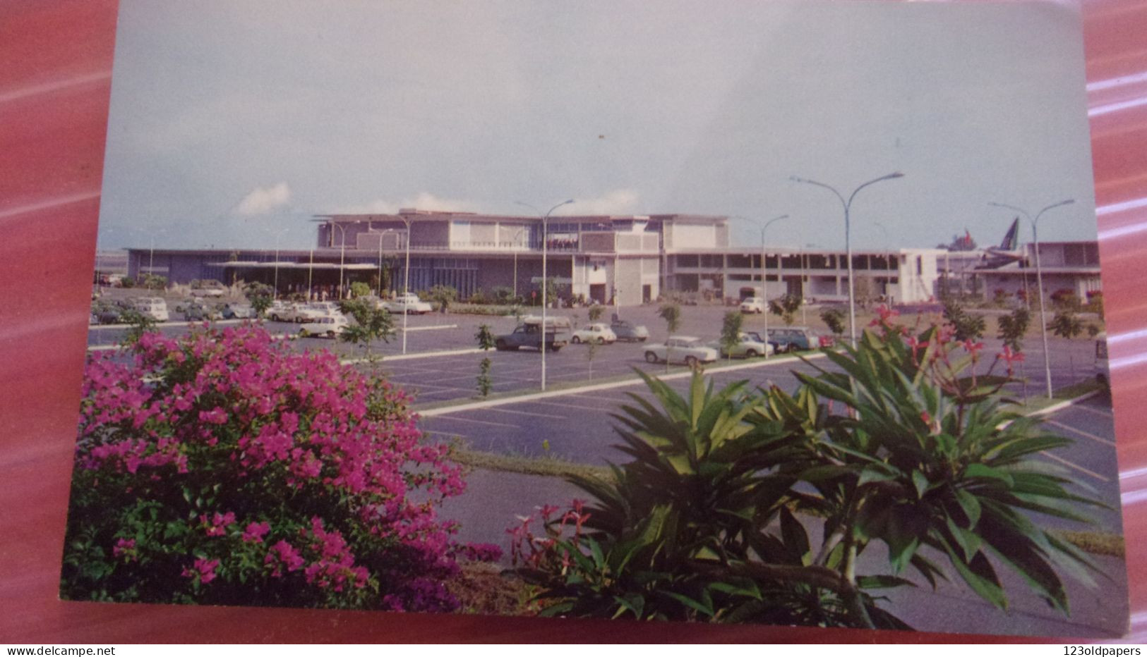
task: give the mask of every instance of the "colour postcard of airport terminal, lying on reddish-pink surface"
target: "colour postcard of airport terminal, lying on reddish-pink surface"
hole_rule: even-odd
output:
[[[1074,10],[117,30],[63,599],[1125,632]]]

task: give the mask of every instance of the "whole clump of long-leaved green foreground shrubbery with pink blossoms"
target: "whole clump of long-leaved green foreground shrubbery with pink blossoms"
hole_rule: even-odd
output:
[[[543,614],[906,628],[873,592],[915,586],[905,571],[935,587],[939,555],[999,609],[1006,568],[1066,615],[1060,572],[1094,586],[1094,565],[1030,517],[1101,506],[1039,458],[1070,441],[1005,410],[1009,378],[991,370],[1011,370],[1007,348],[976,374],[983,345],[890,317],[793,395],[700,375],[681,395],[642,374],[654,399],[614,415],[632,460],[612,482],[571,478],[595,501],[509,530]],[[858,572],[874,543],[887,562]]]

